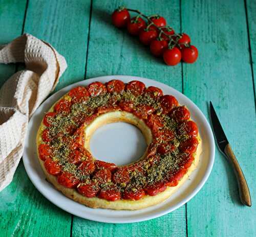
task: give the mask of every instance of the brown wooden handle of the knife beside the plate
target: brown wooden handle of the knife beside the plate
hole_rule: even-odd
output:
[[[251,206],[251,196],[250,196],[250,191],[249,191],[247,182],[245,180],[243,171],[241,170],[241,167],[238,163],[238,160],[234,155],[229,144],[226,145],[224,152],[233,167],[234,174],[237,177],[239,196],[240,196],[241,202],[244,205]]]

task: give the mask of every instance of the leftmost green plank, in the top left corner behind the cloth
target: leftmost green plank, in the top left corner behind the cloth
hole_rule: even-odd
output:
[[[0,45],[22,34],[26,0],[0,0]],[[15,72],[15,65],[0,64],[0,87]]]

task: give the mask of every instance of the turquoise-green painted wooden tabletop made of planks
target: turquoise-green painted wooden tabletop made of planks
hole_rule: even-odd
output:
[[[136,38],[110,23],[120,5],[163,15],[199,49],[195,64],[166,66]],[[208,118],[211,100],[250,187],[252,207],[239,201],[237,182],[216,150],[211,175],[187,204],[163,217],[105,224],[75,217],[49,202],[20,161],[0,193],[0,236],[256,236],[255,82],[256,2],[0,0],[0,43],[27,32],[50,42],[68,69],[56,90],[104,75],[155,79],[183,92]],[[15,65],[0,65],[1,85]]]

